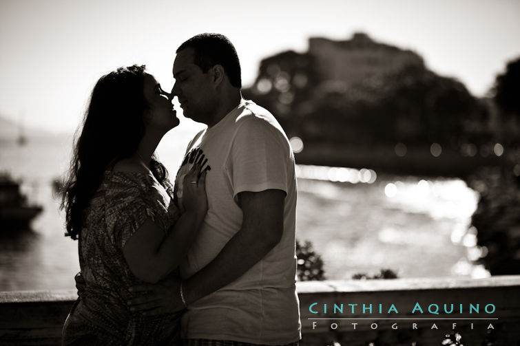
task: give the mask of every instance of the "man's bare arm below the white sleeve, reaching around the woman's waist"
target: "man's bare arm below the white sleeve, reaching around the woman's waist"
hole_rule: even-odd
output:
[[[188,305],[241,277],[280,242],[284,199],[281,190],[238,193],[242,227],[213,261],[183,283]]]

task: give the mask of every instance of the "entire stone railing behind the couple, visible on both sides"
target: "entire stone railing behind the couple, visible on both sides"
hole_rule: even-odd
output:
[[[466,346],[520,343],[520,276],[308,281],[298,294],[302,345],[441,345],[455,332]],[[0,292],[0,345],[59,345],[75,298]]]

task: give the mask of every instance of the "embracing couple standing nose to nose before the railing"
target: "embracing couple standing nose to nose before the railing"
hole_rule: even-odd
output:
[[[63,345],[298,345],[294,157],[240,92],[220,34],[178,47],[171,92],[144,66],[98,80],[63,197],[79,299]],[[184,116],[207,125],[174,185],[154,151]]]

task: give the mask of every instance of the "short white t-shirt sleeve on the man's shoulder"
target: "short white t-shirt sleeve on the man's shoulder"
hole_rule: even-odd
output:
[[[239,125],[226,162],[233,198],[244,191],[282,190],[287,194],[289,143],[267,120],[250,118]]]

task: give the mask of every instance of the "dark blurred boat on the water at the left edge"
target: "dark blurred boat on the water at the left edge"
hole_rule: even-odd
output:
[[[0,230],[19,230],[30,227],[43,208],[31,205],[20,192],[20,184],[10,175],[0,174]]]

